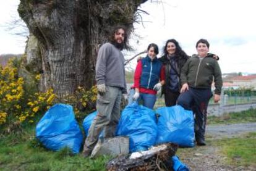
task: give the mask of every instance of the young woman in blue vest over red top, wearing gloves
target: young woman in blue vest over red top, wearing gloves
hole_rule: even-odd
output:
[[[153,109],[157,91],[164,85],[164,67],[156,57],[158,54],[156,44],[149,44],[147,52],[147,56],[139,60],[136,66],[129,102],[142,100],[143,106]]]

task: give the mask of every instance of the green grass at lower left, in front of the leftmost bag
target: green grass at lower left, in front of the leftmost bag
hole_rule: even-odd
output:
[[[105,170],[109,156],[96,159],[73,155],[69,149],[48,151],[35,140],[33,129],[0,140],[0,170]]]

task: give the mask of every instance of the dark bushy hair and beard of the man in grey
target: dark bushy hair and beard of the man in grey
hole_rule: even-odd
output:
[[[121,46],[121,47],[119,47],[121,50],[122,49],[129,49],[129,44],[128,44],[128,38],[127,38],[127,29],[126,29],[126,27],[124,27],[124,26],[122,26],[122,25],[117,25],[116,27],[113,27],[113,29],[112,29],[112,31],[111,31],[111,36],[110,36],[110,38],[109,38],[109,41],[112,43],[112,44],[114,44],[115,46],[117,45],[116,44],[116,40],[114,39],[114,35],[115,35],[115,33],[117,33],[117,31],[118,30],[120,30],[120,29],[122,29],[122,30],[124,30],[124,42],[121,44],[121,45],[119,45],[119,46]]]

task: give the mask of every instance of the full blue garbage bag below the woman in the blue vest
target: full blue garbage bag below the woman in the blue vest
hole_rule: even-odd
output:
[[[155,145],[157,125],[155,111],[134,102],[122,111],[116,135],[129,136],[130,152],[145,151]]]

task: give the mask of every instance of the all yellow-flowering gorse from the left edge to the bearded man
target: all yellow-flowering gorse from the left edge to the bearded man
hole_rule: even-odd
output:
[[[45,93],[31,88],[39,83],[40,74],[32,75],[33,81],[26,81],[19,76],[18,67],[14,60],[9,60],[6,67],[0,66],[0,130],[12,123],[33,123],[36,116],[41,117],[58,101],[72,105],[77,119],[82,119],[83,111],[95,109],[96,86],[90,90],[79,86],[73,95],[63,98],[66,100],[58,99],[52,88]]]

